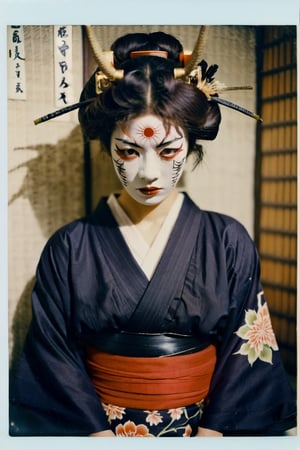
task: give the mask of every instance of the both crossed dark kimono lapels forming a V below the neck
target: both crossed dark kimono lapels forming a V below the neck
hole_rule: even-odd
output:
[[[100,225],[96,226],[96,232],[126,304],[124,331],[145,333],[161,329],[169,305],[181,294],[199,233],[200,216],[197,206],[185,196],[170,239],[149,282],[132,256],[106,199],[100,202],[94,215],[95,225]]]

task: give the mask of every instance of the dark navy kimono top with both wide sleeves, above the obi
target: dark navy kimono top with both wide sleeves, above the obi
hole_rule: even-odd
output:
[[[58,230],[42,253],[33,319],[11,388],[11,435],[84,436],[108,429],[85,348],[120,330],[182,333],[216,343],[200,426],[249,435],[295,426],[295,398],[259,275],[243,226],[200,210],[185,195],[149,281],[102,199],[90,217]],[[153,311],[149,298],[157,295],[160,306]]]

